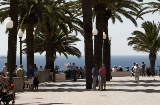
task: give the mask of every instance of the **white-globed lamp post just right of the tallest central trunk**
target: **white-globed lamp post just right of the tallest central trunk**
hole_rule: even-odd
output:
[[[97,56],[97,55],[96,55],[96,53],[95,53],[96,50],[97,50],[97,47],[96,47],[96,43],[97,43],[97,39],[96,39],[96,38],[97,38],[97,37],[96,37],[96,36],[97,36],[97,34],[98,34],[98,30],[96,29],[96,27],[93,28],[92,34],[94,35],[94,50],[93,50],[93,51],[94,51],[94,54],[93,54],[93,56],[94,56],[94,64],[96,64],[96,63],[97,63],[97,62],[96,62],[96,56]]]

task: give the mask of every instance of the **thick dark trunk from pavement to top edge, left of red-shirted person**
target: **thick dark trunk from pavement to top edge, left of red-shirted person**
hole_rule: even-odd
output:
[[[93,41],[92,41],[92,0],[82,0],[83,28],[85,43],[86,89],[92,89]]]

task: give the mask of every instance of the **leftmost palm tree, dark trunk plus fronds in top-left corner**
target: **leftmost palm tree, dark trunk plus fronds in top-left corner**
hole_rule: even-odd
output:
[[[11,17],[13,21],[13,28],[9,29],[9,36],[8,36],[8,70],[10,70],[10,79],[11,75],[15,70],[16,65],[16,45],[17,45],[17,27],[18,27],[18,0],[10,0],[8,1],[1,1],[0,6],[8,5],[7,6],[7,14],[4,13],[4,8],[0,9],[0,22],[2,23],[7,17]]]

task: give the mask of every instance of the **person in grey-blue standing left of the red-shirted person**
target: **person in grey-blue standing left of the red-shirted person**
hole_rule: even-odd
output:
[[[97,71],[97,65],[95,64],[92,68],[92,89],[96,90],[96,84],[97,84],[97,77],[98,77],[98,71]]]

